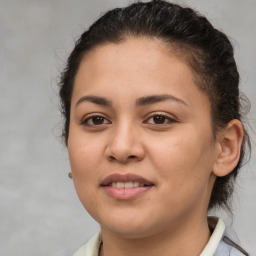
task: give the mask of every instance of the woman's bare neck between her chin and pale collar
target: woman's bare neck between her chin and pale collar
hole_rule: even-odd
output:
[[[100,256],[196,256],[210,237],[207,218],[176,224],[143,238],[127,238],[102,228],[103,246]]]

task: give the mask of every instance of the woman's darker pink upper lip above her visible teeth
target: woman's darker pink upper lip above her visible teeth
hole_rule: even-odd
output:
[[[148,186],[153,185],[153,182],[133,173],[127,173],[127,174],[114,173],[104,178],[101,182],[101,186],[108,186],[112,182],[128,182],[128,181],[139,182]]]

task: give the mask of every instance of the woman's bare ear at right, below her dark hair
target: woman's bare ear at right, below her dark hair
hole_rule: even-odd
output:
[[[231,120],[217,135],[217,155],[213,173],[222,177],[228,175],[236,167],[243,142],[243,125]]]

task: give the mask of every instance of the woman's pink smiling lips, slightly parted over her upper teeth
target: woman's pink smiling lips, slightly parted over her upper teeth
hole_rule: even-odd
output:
[[[135,174],[112,174],[101,183],[108,196],[119,200],[134,199],[151,189],[154,184]]]

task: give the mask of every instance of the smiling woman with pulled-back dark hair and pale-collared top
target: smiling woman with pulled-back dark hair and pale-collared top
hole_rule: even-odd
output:
[[[249,138],[230,41],[166,1],[107,12],[60,82],[71,174],[100,224],[75,256],[248,255],[221,219]]]

